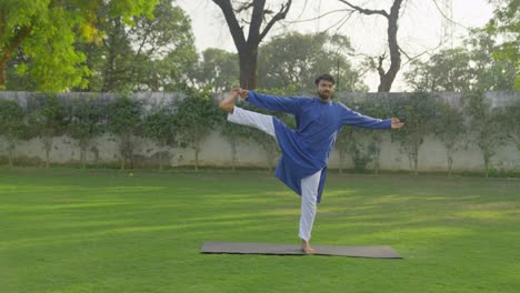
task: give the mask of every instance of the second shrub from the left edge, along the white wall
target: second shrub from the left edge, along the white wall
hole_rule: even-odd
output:
[[[46,168],[49,168],[49,153],[52,149],[54,137],[61,137],[69,123],[66,107],[56,94],[38,95],[36,104],[29,107],[29,128],[33,137],[43,141],[46,150]]]

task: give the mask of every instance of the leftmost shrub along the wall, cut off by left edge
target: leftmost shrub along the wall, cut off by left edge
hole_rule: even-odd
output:
[[[24,117],[24,110],[17,101],[0,99],[0,137],[3,137],[8,144],[9,166],[12,166],[12,151],[16,143],[26,130]]]

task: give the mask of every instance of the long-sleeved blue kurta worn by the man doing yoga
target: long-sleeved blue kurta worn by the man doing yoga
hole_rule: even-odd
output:
[[[361,115],[342,103],[323,102],[319,98],[282,98],[249,91],[248,101],[267,110],[294,115],[296,130],[273,118],[277,140],[282,152],[274,174],[301,195],[301,180],[323,170],[318,188],[318,202],[321,201],[323,192],[329,155],[341,127],[391,128],[390,119]]]

